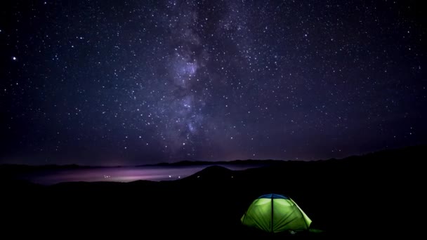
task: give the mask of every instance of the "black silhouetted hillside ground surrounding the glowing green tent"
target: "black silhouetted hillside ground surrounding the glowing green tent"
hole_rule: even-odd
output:
[[[86,239],[369,239],[424,228],[426,147],[246,171],[212,166],[170,182],[34,185],[0,168],[0,235]],[[261,194],[290,196],[322,232],[264,234],[240,223]],[[1,239],[10,239],[3,238]]]

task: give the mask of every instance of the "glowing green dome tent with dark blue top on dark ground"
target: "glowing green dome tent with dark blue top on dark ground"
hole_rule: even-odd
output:
[[[301,231],[311,224],[310,218],[291,198],[280,194],[258,197],[240,220],[243,225],[265,232]]]

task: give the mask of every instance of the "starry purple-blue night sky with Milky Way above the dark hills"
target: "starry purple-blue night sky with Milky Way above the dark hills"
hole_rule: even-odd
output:
[[[1,1],[0,163],[425,144],[421,2]]]

